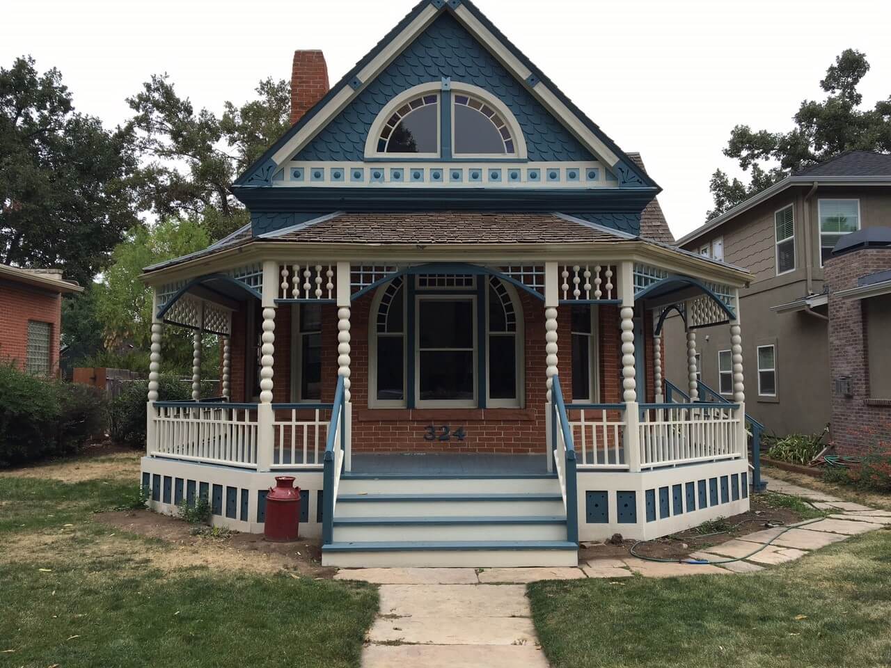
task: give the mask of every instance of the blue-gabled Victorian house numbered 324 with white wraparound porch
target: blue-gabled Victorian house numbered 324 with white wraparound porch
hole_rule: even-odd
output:
[[[663,404],[653,330],[683,300],[739,345],[750,274],[674,248],[639,156],[473,4],[417,4],[330,90],[295,53],[292,107],[233,184],[250,224],[145,270],[151,508],[259,531],[287,473],[332,566],[576,564],[748,509],[741,363]],[[159,396],[170,325],[192,401]]]

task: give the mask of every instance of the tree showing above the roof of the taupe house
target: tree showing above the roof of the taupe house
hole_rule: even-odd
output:
[[[873,109],[860,109],[863,98],[857,86],[869,69],[863,53],[846,49],[820,82],[828,93],[826,99],[802,102],[792,130],[772,133],[734,127],[723,154],[737,159],[743,170],[751,169],[751,180],[748,184],[731,180],[720,169],[715,170],[708,188],[715,208],[707,213],[708,220],[789,174],[844,151],[891,151],[891,97],[876,102]],[[774,166],[765,170],[761,167],[764,161]]]

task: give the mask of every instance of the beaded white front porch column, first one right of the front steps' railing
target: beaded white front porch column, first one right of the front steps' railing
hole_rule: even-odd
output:
[[[640,408],[634,369],[634,263],[623,262],[618,268],[619,315],[622,319],[622,401],[625,403],[625,431],[622,435],[628,470],[641,470]]]

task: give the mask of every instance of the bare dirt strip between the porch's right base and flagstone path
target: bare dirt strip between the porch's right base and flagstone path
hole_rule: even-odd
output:
[[[710,545],[717,545],[739,538],[747,534],[755,534],[772,525],[791,525],[800,522],[802,517],[788,508],[772,508],[752,497],[748,512],[732,517],[724,517],[720,523],[709,523],[703,527],[694,527],[677,534],[657,538],[654,541],[640,543],[634,550],[645,557],[661,559],[680,559],[698,552]],[[598,558],[628,557],[631,548],[637,541],[623,540],[618,542],[583,543],[578,551],[578,560]]]

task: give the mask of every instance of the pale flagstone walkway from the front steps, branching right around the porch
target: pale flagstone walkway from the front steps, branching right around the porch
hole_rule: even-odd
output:
[[[788,531],[764,529],[691,555],[710,564],[646,561],[634,557],[598,558],[577,568],[357,568],[340,570],[336,580],[380,585],[380,614],[368,633],[363,668],[547,668],[538,647],[527,582],[676,575],[752,573],[803,557],[852,535],[891,525],[891,511],[841,501],[768,478],[772,492],[795,494],[829,517],[800,523]],[[766,545],[766,543],[771,544]],[[759,550],[759,548],[763,548]],[[756,550],[759,550],[756,552]],[[754,553],[754,554],[753,554]]]

